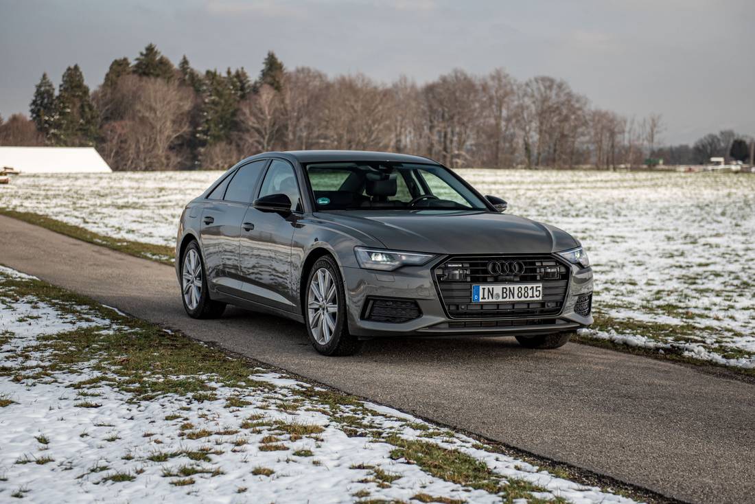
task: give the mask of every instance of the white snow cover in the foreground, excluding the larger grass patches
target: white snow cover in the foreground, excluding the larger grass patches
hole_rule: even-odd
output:
[[[54,357],[34,348],[39,336],[93,324],[120,330],[85,307],[63,312],[33,296],[6,300],[0,304],[0,334],[8,339],[0,346],[0,360],[6,366],[23,366],[25,372],[45,366]],[[392,444],[347,435],[333,416],[338,413],[327,413],[328,406],[318,404],[316,396],[300,395],[319,387],[270,369],[250,369],[251,377],[269,383],[269,388],[228,387],[214,383],[212,376],[198,376],[216,387],[216,399],[164,394],[133,402],[130,394],[108,382],[81,391],[72,388],[100,376],[92,368],[96,356],[92,358],[76,373],[57,369],[48,378],[20,383],[0,376],[0,397],[15,401],[0,408],[0,499],[20,492],[33,502],[353,502],[357,492],[368,492],[370,499],[408,501],[427,493],[466,502],[501,501],[498,495],[444,481],[418,464],[393,459]],[[230,406],[231,398],[238,407]],[[90,407],[82,407],[85,401]],[[291,404],[300,406],[292,409]],[[476,441],[447,429],[440,438],[428,438],[423,436],[427,429],[440,428],[392,408],[359,404],[344,406],[344,413],[377,431],[395,430],[407,440],[459,450],[504,478],[538,484],[546,490],[535,493],[541,498],[633,502],[480,450]],[[245,425],[247,419],[260,425]],[[276,421],[319,426],[322,432],[293,438],[276,433]],[[263,449],[273,442],[264,439],[271,434],[279,437],[274,442],[284,445],[282,450]],[[397,478],[381,485],[373,468]],[[125,481],[109,479],[118,476]],[[176,486],[182,483],[185,486]]]

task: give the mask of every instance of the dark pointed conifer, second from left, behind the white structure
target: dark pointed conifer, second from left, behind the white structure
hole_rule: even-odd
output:
[[[69,66],[55,100],[55,117],[50,135],[57,145],[91,145],[97,137],[97,110],[79,65]]]

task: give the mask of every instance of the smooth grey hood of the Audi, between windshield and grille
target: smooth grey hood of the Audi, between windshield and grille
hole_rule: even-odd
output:
[[[547,254],[579,246],[569,233],[516,215],[479,211],[351,210],[317,212],[388,249],[439,254]]]

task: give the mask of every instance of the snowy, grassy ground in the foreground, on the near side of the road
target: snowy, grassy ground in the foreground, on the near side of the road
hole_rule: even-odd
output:
[[[633,502],[0,267],[0,501]]]

